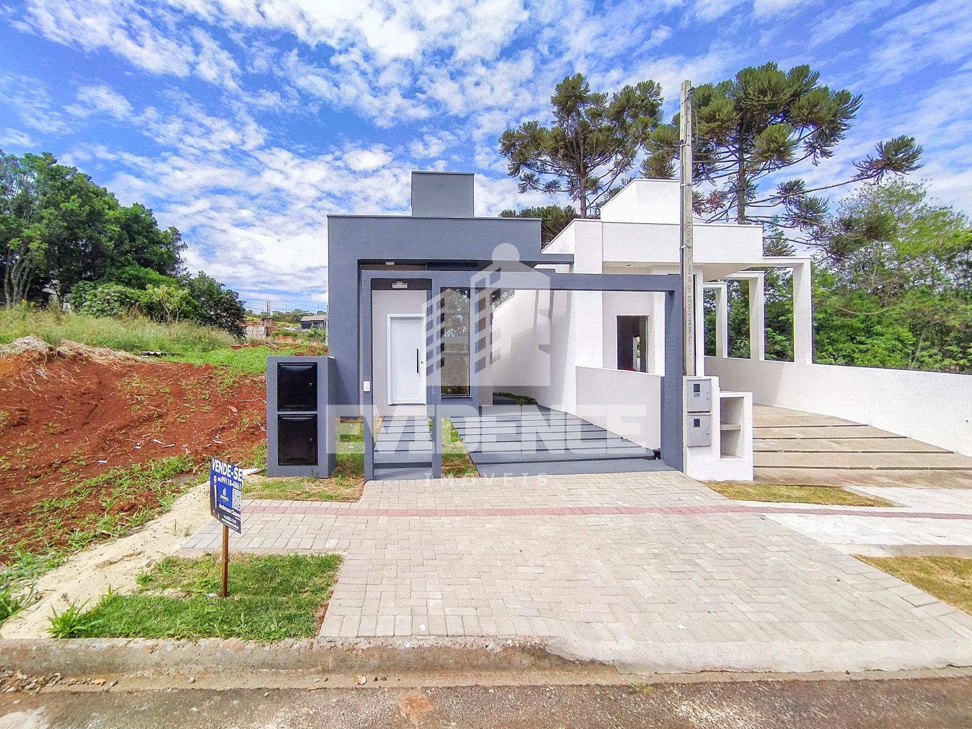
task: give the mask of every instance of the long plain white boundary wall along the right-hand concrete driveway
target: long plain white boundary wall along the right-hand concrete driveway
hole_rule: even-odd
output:
[[[707,357],[754,402],[833,415],[972,456],[972,375]]]

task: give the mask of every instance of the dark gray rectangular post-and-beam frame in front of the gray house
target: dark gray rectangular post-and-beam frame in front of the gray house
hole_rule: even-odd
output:
[[[654,292],[665,295],[665,374],[662,377],[661,451],[662,461],[672,469],[681,470],[682,461],[682,302],[681,276],[669,274],[628,273],[557,273],[535,268],[530,271],[481,271],[481,270],[396,270],[363,269],[359,301],[359,332],[361,341],[362,415],[364,419],[364,480],[374,478],[374,398],[373,398],[373,347],[371,341],[371,295],[373,291],[391,290],[393,282],[402,282],[409,289],[426,291],[426,413],[432,418],[433,452],[432,477],[442,476],[442,417],[450,406],[469,411],[478,408],[479,393],[476,368],[472,361],[478,354],[481,340],[482,319],[479,316],[482,291],[492,289],[519,289],[522,291],[566,292]],[[540,283],[539,277],[545,279]],[[441,300],[443,289],[469,289],[470,305],[470,353],[469,398],[448,399],[443,403],[440,390],[441,343],[436,336],[438,317],[429,316],[434,311],[434,301]],[[474,311],[473,311],[474,307]],[[435,312],[437,314],[437,312]],[[372,387],[364,390],[364,382]],[[463,401],[456,401],[463,400]],[[478,410],[477,410],[478,411]]]

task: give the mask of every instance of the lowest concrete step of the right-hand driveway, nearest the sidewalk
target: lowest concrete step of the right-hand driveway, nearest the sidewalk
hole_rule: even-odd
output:
[[[886,486],[972,489],[972,472],[914,469],[753,469],[756,483],[783,486]]]

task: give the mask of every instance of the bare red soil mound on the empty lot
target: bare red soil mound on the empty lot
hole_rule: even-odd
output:
[[[181,454],[241,461],[265,438],[264,397],[262,377],[209,365],[38,352],[0,359],[0,553],[33,541],[37,504],[109,469]]]

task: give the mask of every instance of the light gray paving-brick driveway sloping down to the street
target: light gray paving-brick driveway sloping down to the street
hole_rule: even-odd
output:
[[[544,636],[656,670],[972,663],[972,616],[677,472],[251,502],[234,548],[345,554],[329,637]],[[184,549],[219,544],[215,523]]]

